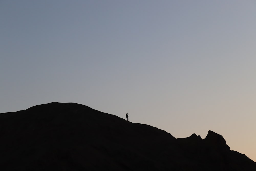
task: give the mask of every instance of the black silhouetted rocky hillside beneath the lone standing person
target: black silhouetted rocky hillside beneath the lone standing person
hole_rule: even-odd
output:
[[[6,170],[256,170],[212,131],[176,139],[75,103],[0,114],[0,140]]]

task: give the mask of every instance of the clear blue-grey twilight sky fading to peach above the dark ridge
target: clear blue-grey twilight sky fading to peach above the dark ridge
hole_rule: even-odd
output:
[[[256,2],[0,1],[0,113],[73,102],[256,161]]]

